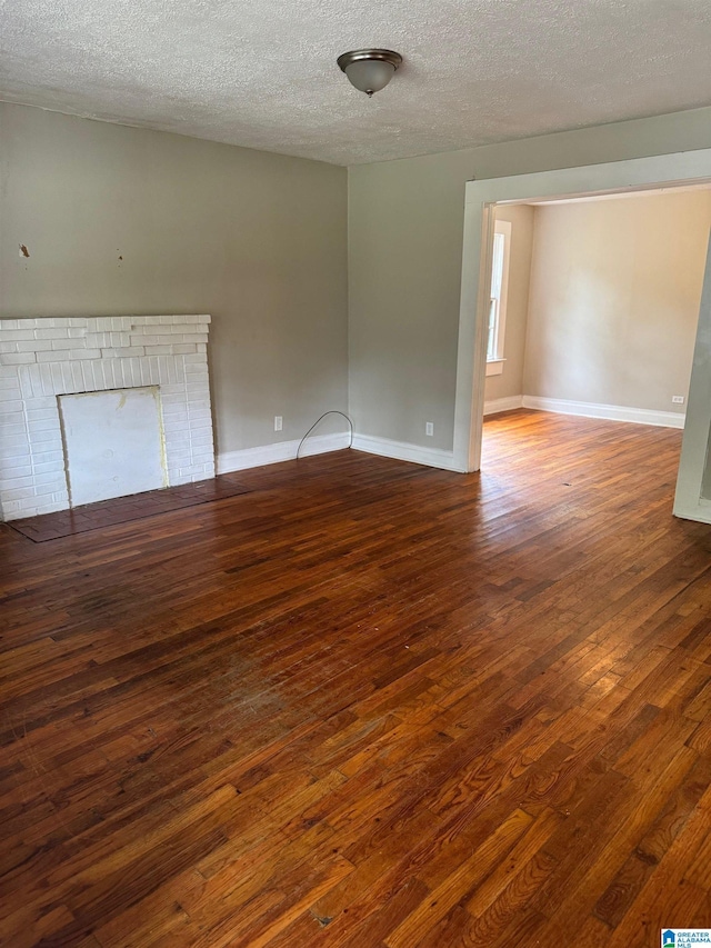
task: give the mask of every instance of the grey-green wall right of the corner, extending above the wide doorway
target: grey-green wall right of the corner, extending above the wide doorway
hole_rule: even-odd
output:
[[[709,147],[711,109],[698,109],[349,169],[357,429],[452,448],[465,181]]]

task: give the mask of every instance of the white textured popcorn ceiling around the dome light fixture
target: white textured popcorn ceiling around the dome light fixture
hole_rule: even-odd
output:
[[[0,98],[381,161],[711,103],[709,0],[0,0]],[[336,66],[404,63],[372,99]]]

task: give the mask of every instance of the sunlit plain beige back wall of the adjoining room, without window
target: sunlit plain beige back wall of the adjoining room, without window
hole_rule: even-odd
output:
[[[683,413],[711,192],[534,213],[524,395]]]

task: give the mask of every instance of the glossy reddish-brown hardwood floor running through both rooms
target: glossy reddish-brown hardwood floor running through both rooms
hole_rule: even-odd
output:
[[[658,946],[711,926],[711,528],[680,432],[519,411],[0,527],[0,944]]]

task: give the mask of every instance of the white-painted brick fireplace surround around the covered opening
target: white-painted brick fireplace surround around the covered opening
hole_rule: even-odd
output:
[[[209,316],[1,319],[2,519],[71,506],[58,405],[67,395],[158,387],[166,480],[214,477],[209,323]]]

